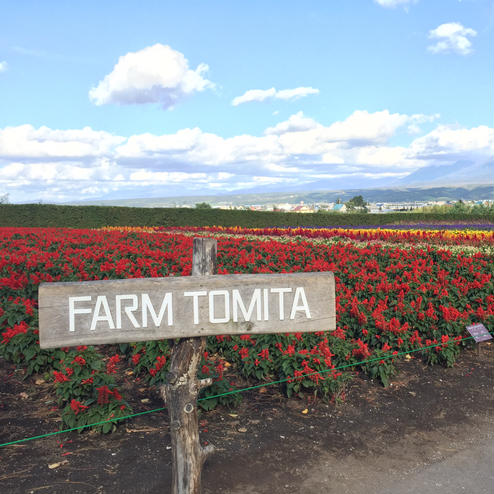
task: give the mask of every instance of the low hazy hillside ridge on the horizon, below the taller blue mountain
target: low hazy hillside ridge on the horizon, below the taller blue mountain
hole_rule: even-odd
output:
[[[339,189],[319,191],[284,191],[262,194],[225,194],[201,195],[182,197],[154,197],[142,199],[114,199],[71,202],[72,205],[101,205],[127,207],[177,207],[195,206],[207,202],[212,206],[243,206],[243,205],[272,205],[281,203],[305,204],[335,202],[337,199],[345,202],[352,197],[361,195],[367,202],[410,202],[410,201],[479,201],[494,199],[493,185],[459,185],[458,187],[394,187],[373,189]]]

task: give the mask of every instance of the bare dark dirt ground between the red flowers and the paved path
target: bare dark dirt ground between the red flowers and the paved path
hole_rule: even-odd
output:
[[[200,417],[201,441],[216,447],[203,492],[370,494],[492,439],[493,357],[486,343],[480,356],[467,350],[449,369],[402,360],[391,386],[358,375],[341,404],[286,399],[274,386],[247,392],[236,409]],[[0,361],[0,443],[59,429],[49,390]],[[135,411],[163,406],[148,393],[134,388]],[[167,493],[170,449],[166,411],[112,435],[71,432],[6,446],[0,492]]]

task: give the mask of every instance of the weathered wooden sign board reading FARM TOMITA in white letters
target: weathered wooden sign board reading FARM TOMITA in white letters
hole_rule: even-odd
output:
[[[332,331],[333,273],[42,283],[41,348],[221,334]]]

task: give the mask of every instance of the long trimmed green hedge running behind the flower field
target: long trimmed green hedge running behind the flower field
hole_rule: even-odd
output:
[[[99,228],[102,226],[359,226],[439,221],[492,223],[492,215],[432,213],[279,213],[187,208],[126,208],[0,204],[0,226]]]

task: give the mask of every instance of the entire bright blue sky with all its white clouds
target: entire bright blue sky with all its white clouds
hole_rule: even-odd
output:
[[[0,196],[485,180],[493,21],[491,0],[7,2]]]

